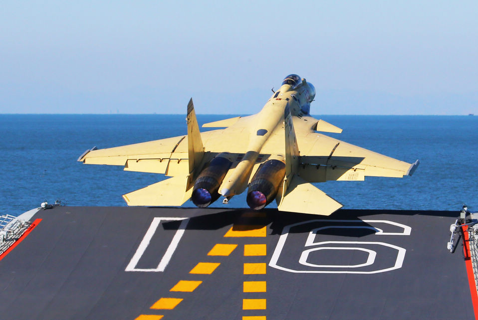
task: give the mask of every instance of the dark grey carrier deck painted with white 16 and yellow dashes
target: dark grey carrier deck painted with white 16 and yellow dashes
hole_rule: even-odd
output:
[[[474,319],[461,248],[455,254],[446,248],[458,212],[258,214],[145,207],[40,210],[32,220],[42,221],[0,261],[0,319]],[[190,219],[162,219],[132,265],[156,269],[169,247],[164,271],[125,271],[155,217]],[[182,222],[186,227],[178,239]],[[396,223],[410,227],[410,235]],[[225,237],[231,228],[241,236]],[[216,244],[238,246],[230,255],[208,255]],[[262,246],[244,247],[250,244]],[[200,262],[208,263],[201,265],[203,273],[190,273]],[[210,263],[220,265],[212,270]],[[249,263],[262,265],[244,265]],[[244,274],[251,270],[258,274]],[[191,292],[170,291],[179,281],[201,283]],[[244,292],[264,291],[263,282],[266,292]],[[150,309],[160,298],[183,300],[166,304],[169,310]]]

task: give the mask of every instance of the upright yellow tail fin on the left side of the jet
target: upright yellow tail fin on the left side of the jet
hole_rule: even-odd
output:
[[[193,175],[196,174],[195,168],[201,163],[204,155],[203,141],[201,140],[201,133],[199,132],[198,120],[196,119],[196,112],[194,111],[193,98],[188,103],[188,158],[189,158],[189,179],[188,184],[193,181]],[[188,186],[189,188],[189,186]]]

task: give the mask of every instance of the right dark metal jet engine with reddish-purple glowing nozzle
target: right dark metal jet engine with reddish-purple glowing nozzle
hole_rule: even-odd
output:
[[[284,176],[284,161],[272,159],[262,163],[249,183],[246,198],[249,207],[260,210],[269,204],[275,198]]]

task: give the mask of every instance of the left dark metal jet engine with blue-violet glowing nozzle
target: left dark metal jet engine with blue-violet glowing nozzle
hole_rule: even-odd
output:
[[[219,198],[219,186],[232,164],[227,156],[226,153],[219,154],[199,174],[191,195],[196,206],[205,208]]]

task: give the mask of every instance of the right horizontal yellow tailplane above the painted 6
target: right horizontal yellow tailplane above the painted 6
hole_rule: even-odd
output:
[[[287,192],[277,205],[279,211],[317,215],[330,215],[341,207],[342,204],[297,175],[294,175]]]

